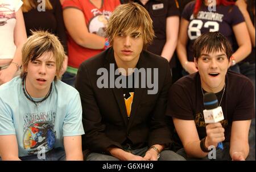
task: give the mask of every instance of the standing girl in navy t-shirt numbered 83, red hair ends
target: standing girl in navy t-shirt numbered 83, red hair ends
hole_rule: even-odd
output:
[[[188,3],[181,15],[177,55],[183,69],[191,74],[197,72],[193,62],[192,45],[205,32],[218,31],[226,36],[233,47],[232,65],[242,61],[251,52],[249,33],[241,11],[234,2],[196,0]],[[234,47],[237,41],[238,48]],[[237,70],[239,72],[239,70]],[[185,75],[185,73],[184,73]]]

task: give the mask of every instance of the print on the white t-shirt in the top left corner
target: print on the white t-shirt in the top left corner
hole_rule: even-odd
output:
[[[10,19],[16,19],[15,10],[8,3],[0,3],[0,26],[7,24]]]

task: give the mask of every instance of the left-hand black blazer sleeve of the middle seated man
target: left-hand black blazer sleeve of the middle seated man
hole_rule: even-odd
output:
[[[106,125],[102,124],[102,116],[94,97],[89,71],[83,63],[77,72],[75,87],[80,93],[82,103],[82,124],[85,131],[85,146],[92,152],[107,153],[106,149],[122,146],[105,134]]]

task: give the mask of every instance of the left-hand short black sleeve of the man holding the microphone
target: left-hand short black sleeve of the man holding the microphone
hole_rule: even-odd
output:
[[[167,104],[167,116],[183,120],[193,120],[192,102],[183,86],[174,83],[171,86]]]

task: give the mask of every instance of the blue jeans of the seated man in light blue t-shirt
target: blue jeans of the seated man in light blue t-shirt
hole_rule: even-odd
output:
[[[19,157],[19,159],[22,161],[65,161],[66,154],[63,148],[55,148],[46,153],[45,159],[40,157],[38,158],[38,154],[26,157]]]

